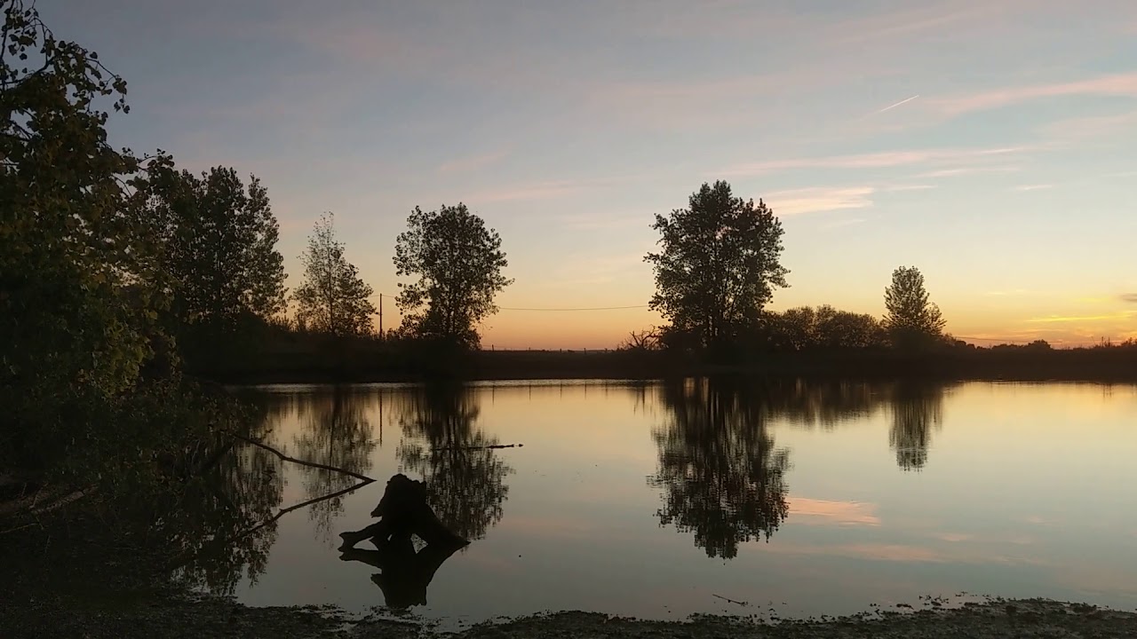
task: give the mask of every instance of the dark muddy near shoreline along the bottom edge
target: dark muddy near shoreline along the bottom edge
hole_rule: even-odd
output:
[[[250,639],[451,639],[511,638],[891,638],[977,639],[1003,637],[1137,636],[1137,613],[1049,599],[999,599],[960,607],[911,612],[873,609],[841,616],[767,622],[752,616],[691,615],[684,621],[650,621],[588,612],[545,613],[473,624],[456,632],[439,631],[429,621],[376,615],[363,619],[334,606],[249,607],[219,597],[171,596],[130,606],[75,606],[38,599],[0,604],[5,637]],[[15,609],[13,609],[15,608]]]

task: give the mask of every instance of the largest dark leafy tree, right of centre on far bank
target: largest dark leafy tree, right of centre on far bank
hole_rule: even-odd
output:
[[[652,229],[662,250],[645,257],[655,271],[649,306],[703,347],[753,327],[774,287],[789,285],[781,223],[762,200],[733,197],[727,182],[704,183],[689,208],[657,214]]]

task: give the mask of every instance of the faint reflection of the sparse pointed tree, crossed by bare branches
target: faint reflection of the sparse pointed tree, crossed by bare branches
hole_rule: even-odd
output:
[[[345,468],[366,475],[371,470],[372,426],[367,420],[373,395],[352,392],[341,387],[330,393],[317,393],[297,405],[302,430],[293,440],[296,456],[317,464]],[[304,490],[308,499],[343,490],[356,479],[326,468],[301,466]],[[325,499],[308,508],[325,541],[332,540],[332,523],[343,512],[343,496]]]

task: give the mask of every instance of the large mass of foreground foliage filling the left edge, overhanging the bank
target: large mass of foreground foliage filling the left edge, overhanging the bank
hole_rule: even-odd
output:
[[[131,403],[165,391],[140,385],[165,343],[156,321],[166,301],[150,285],[150,229],[125,204],[140,163],[107,143],[109,114],[98,107],[107,98],[125,111],[126,84],[94,52],[57,39],[30,3],[3,8],[0,403],[11,423],[0,429],[0,463],[51,472],[67,462],[73,475],[98,479],[139,443],[106,426],[128,424]],[[111,458],[80,473],[80,454],[96,453]]]

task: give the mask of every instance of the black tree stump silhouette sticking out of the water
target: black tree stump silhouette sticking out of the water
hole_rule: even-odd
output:
[[[383,498],[371,515],[380,517],[380,521],[358,532],[340,533],[343,538],[341,550],[350,549],[365,539],[380,546],[391,540],[409,539],[412,534],[428,545],[462,547],[470,543],[446,528],[426,504],[426,484],[402,473],[388,480]]]

